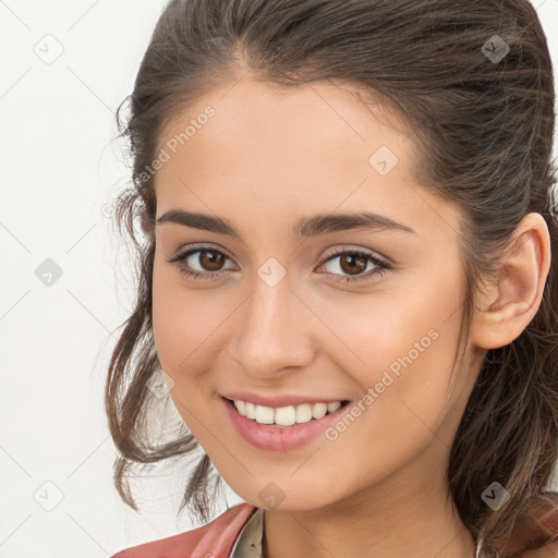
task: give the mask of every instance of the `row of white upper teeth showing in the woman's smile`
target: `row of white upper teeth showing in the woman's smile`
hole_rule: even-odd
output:
[[[288,405],[274,409],[235,399],[234,407],[242,416],[255,420],[259,424],[291,426],[293,424],[307,423],[313,418],[322,418],[328,412],[333,413],[341,407],[341,401],[333,401],[332,403],[304,403],[296,407]]]

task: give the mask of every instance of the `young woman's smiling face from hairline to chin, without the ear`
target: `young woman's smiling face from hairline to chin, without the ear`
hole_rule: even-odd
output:
[[[374,113],[331,84],[245,77],[160,137],[157,352],[185,424],[258,507],[314,509],[395,478],[432,489],[475,379],[468,359],[452,374],[461,214],[413,181],[412,131]],[[223,399],[239,396],[310,405],[277,413],[287,423],[349,403],[279,427]]]

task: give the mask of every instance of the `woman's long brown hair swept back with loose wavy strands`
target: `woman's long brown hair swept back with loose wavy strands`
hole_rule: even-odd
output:
[[[504,59],[488,56],[494,45],[509,47]],[[163,445],[146,436],[153,420],[147,409],[156,401],[148,385],[160,372],[151,331],[155,175],[146,169],[165,124],[213,87],[242,78],[246,69],[284,87],[326,80],[355,84],[404,116],[416,140],[417,180],[456,202],[466,217],[462,348],[475,293],[497,274],[511,234],[527,213],[544,216],[553,260],[541,307],[513,342],[488,351],[451,448],[447,481],[463,523],[482,542],[482,556],[511,557],[558,537],[548,530],[541,535],[537,523],[557,506],[544,496],[558,458],[555,92],[546,38],[525,0],[168,2],[133,93],[117,112],[133,159],[133,185],[118,199],[117,219],[138,255],[135,308],[106,384],[110,433],[121,453],[114,462],[121,497],[137,510],[125,478],[131,469],[198,447],[183,424]],[[131,110],[122,124],[126,101]],[[136,218],[145,242],[135,236]],[[210,519],[211,473],[215,488],[220,476],[204,453],[179,513],[187,506]],[[494,482],[510,494],[498,510],[482,498]]]

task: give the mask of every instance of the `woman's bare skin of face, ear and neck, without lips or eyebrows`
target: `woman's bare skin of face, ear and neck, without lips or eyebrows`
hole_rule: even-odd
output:
[[[381,106],[363,107],[347,86],[286,92],[245,76],[190,106],[160,145],[208,105],[215,117],[158,171],[157,218],[171,208],[218,215],[242,241],[156,226],[154,336],[178,411],[233,490],[266,510],[265,557],[471,558],[474,541],[446,485],[449,451],[486,350],[511,342],[538,308],[550,260],[544,220],[522,221],[452,374],[462,214],[414,182],[411,129],[387,108],[379,118]],[[368,163],[380,146],[399,159],[387,175]],[[363,209],[415,232],[292,235],[303,216]],[[220,276],[189,278],[168,262],[201,242],[227,258],[210,267],[214,254],[198,252],[187,262]],[[392,268],[375,275],[368,263],[367,279],[338,282],[359,274],[341,256],[325,263],[343,247]],[[269,257],[287,270],[272,288],[257,275]],[[262,450],[225,412],[220,393],[232,390],[357,402],[433,329],[437,339],[336,440]],[[271,482],[282,497],[272,508],[258,496]]]

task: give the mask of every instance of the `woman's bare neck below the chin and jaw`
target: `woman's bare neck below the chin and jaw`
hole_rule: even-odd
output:
[[[474,558],[476,544],[440,469],[421,480],[400,470],[319,509],[265,511],[263,557]]]

